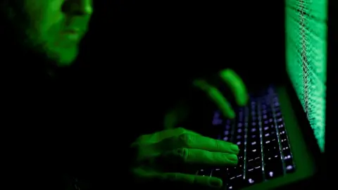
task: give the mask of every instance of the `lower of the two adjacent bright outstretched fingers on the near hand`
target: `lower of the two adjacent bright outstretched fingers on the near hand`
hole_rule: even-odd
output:
[[[229,165],[237,165],[237,155],[233,153],[218,153],[204,151],[193,148],[177,148],[167,151],[161,155],[161,164],[167,166],[218,166],[226,167]]]

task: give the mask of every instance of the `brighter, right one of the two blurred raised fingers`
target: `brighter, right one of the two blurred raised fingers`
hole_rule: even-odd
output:
[[[249,100],[249,96],[241,77],[239,77],[236,72],[230,69],[222,70],[220,72],[220,77],[227,84],[227,86],[230,87],[237,104],[239,106],[245,106]]]

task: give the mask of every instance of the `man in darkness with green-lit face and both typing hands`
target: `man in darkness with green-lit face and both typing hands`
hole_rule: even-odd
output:
[[[184,99],[196,99],[192,91],[182,93],[182,97],[177,96],[180,99],[174,99],[171,96],[173,92],[168,96],[159,88],[146,88],[149,86],[146,82],[149,81],[140,82],[145,78],[144,75],[128,76],[133,89],[144,90],[135,94],[133,89],[129,89],[130,86],[126,87],[125,84],[129,83],[127,81],[113,81],[111,84],[106,82],[109,86],[100,86],[103,82],[101,77],[97,80],[92,75],[87,75],[78,80],[73,75],[76,70],[70,70],[70,75],[60,71],[68,70],[77,58],[79,43],[87,32],[92,13],[92,0],[1,1],[1,20],[6,25],[2,38],[8,47],[2,56],[14,57],[15,61],[23,58],[18,64],[8,65],[11,72],[6,75],[17,81],[15,89],[20,91],[15,108],[26,110],[25,114],[15,112],[15,116],[23,120],[23,117],[34,113],[27,117],[28,120],[23,120],[23,125],[42,126],[37,132],[44,131],[46,135],[46,138],[39,137],[43,141],[39,139],[37,144],[30,146],[39,147],[37,153],[44,156],[37,163],[29,165],[35,165],[35,171],[41,163],[54,166],[47,167],[49,173],[62,172],[66,189],[98,189],[100,185],[109,187],[115,184],[113,181],[118,182],[118,178],[111,177],[111,174],[120,175],[121,170],[129,171],[127,168],[131,169],[130,175],[135,182],[146,183],[147,186],[151,185],[147,182],[159,180],[174,185],[197,184],[220,188],[223,183],[220,179],[184,173],[185,169],[208,165],[236,165],[236,154],[239,151],[236,145],[225,141],[203,137],[184,128],[175,129],[187,118],[194,116],[189,113],[192,113],[196,101]],[[157,80],[161,80],[160,77]],[[227,84],[239,106],[246,103],[248,96],[244,84],[232,70],[219,72],[216,78]],[[177,81],[182,82],[181,79]],[[182,83],[188,84],[187,89],[192,88],[205,94],[226,117],[234,118],[229,101],[211,80],[201,78],[193,80],[191,84],[189,80]],[[179,84],[172,83],[165,86],[165,90],[175,91],[178,86]],[[109,91],[106,89],[111,89],[113,93],[106,93]],[[158,100],[151,96],[154,92]],[[123,106],[111,102],[111,99],[117,100],[115,103],[122,101]],[[166,101],[173,102],[173,105],[166,105]],[[123,128],[127,130],[121,131]],[[30,132],[33,129],[30,128]],[[130,134],[130,131],[137,132]],[[118,133],[120,135],[116,135]],[[134,138],[145,133],[152,134]],[[120,141],[118,138],[125,139]],[[25,144],[29,144],[32,139],[37,138],[27,139]],[[129,149],[131,143],[132,149]],[[48,144],[48,151],[41,147],[42,144]],[[46,156],[49,153],[51,156]],[[129,153],[136,154],[130,159],[125,158]],[[47,161],[44,160],[45,157],[47,160],[57,158],[57,161]],[[132,165],[119,163],[121,160],[128,160]],[[116,169],[116,166],[121,165],[124,166],[123,169]],[[173,167],[168,168],[168,165]]]

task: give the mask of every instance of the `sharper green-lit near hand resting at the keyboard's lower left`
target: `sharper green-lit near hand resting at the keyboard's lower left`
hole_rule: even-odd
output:
[[[183,128],[168,129],[139,137],[132,144],[136,153],[132,174],[137,182],[223,186],[221,179],[194,175],[207,167],[237,165],[237,145],[203,137]],[[189,172],[192,171],[192,172]]]

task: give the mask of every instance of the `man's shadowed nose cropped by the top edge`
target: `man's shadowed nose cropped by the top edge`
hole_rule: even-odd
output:
[[[75,15],[92,15],[92,0],[68,0],[65,1],[65,9],[68,13]]]

